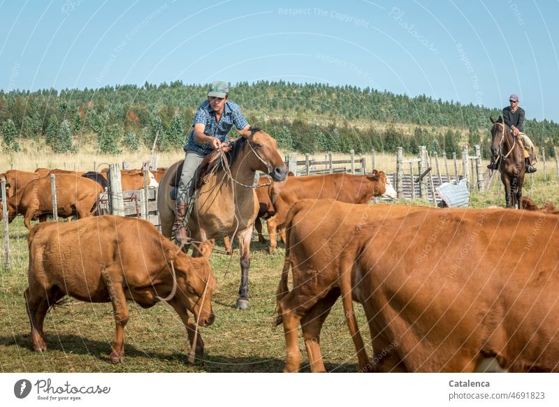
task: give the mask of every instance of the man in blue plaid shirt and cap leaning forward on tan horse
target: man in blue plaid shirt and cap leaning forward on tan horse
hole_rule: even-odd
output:
[[[229,87],[226,82],[213,82],[208,90],[208,100],[204,101],[194,116],[192,132],[187,145],[186,156],[177,190],[176,217],[173,235],[178,244],[187,244],[189,233],[184,225],[188,205],[194,193],[196,169],[203,158],[221,148],[228,140],[227,134],[235,124],[238,133],[247,138],[250,126],[236,103],[228,100]]]

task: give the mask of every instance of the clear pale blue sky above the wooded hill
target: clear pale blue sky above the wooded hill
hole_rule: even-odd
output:
[[[0,0],[0,89],[282,79],[490,108],[514,92],[559,121],[558,15],[557,0]]]

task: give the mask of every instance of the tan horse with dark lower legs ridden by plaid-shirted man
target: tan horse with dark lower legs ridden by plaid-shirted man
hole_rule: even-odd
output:
[[[250,242],[259,209],[252,187],[254,175],[256,171],[263,171],[275,181],[283,181],[287,170],[275,139],[258,128],[252,128],[248,138],[233,142],[233,148],[227,153],[227,163],[220,158],[215,163],[215,172],[211,172],[195,193],[188,229],[191,238],[198,242],[224,236],[238,238],[241,279],[237,306],[246,309],[249,306]],[[171,165],[159,184],[157,209],[161,233],[165,237],[170,237],[175,221],[175,201],[170,199],[169,191],[179,164],[180,161]],[[194,252],[193,256],[196,249]]]

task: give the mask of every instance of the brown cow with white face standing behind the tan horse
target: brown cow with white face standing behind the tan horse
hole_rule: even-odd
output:
[[[368,203],[373,196],[388,195],[396,198],[396,191],[384,171],[372,170],[370,175],[326,174],[306,177],[289,177],[286,182],[270,186],[270,199],[276,214],[266,224],[270,235],[268,251],[277,246],[276,230],[279,228],[285,241],[283,224],[289,208],[305,198],[332,198],[341,202]]]

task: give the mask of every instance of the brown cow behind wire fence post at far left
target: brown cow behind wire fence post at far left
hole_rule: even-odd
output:
[[[96,210],[96,200],[103,188],[91,179],[75,175],[57,175],[58,216],[68,218],[76,215],[78,219],[91,216]],[[52,188],[50,177],[29,182],[8,199],[8,221],[17,214],[24,215],[25,227],[31,230],[31,219],[36,216],[46,221],[52,214]],[[1,218],[1,215],[0,215]]]

